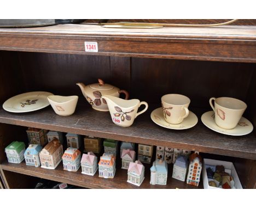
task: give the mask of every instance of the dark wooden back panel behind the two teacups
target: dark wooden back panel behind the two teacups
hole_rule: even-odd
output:
[[[161,96],[186,95],[191,107],[209,108],[210,97],[246,100],[254,64],[132,58],[132,96],[161,105]]]

